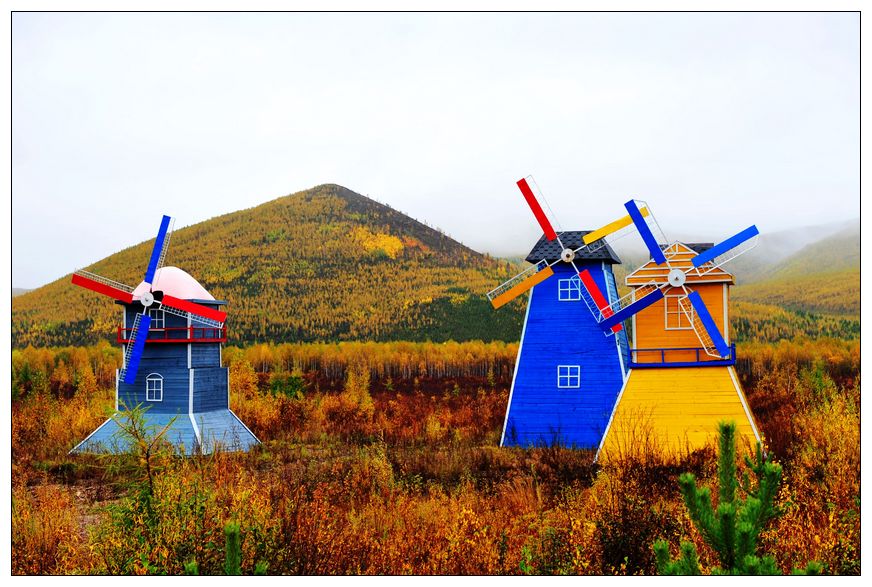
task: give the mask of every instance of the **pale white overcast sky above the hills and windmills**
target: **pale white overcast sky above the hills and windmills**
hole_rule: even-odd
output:
[[[18,287],[162,213],[321,183],[497,255],[541,233],[527,174],[566,230],[629,197],[713,241],[859,216],[858,14],[16,13],[12,32]]]

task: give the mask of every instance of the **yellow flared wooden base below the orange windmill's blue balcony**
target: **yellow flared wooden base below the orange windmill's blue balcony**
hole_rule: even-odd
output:
[[[603,440],[600,461],[656,450],[684,453],[716,441],[718,422],[736,422],[738,443],[753,447],[755,428],[730,367],[633,369]],[[745,401],[747,405],[747,401]]]

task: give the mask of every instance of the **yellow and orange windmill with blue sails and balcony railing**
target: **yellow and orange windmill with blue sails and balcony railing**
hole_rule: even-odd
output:
[[[733,369],[728,317],[733,279],[723,268],[757,245],[757,227],[717,244],[661,245],[637,202],[625,208],[651,259],[627,276],[632,291],[607,307],[596,303],[593,288],[586,287],[583,296],[603,333],[627,320],[633,325],[630,371],[597,457],[604,451],[631,452],[643,439],[664,451],[700,448],[724,419],[735,420],[740,435],[759,441]],[[660,240],[666,241],[662,235]]]

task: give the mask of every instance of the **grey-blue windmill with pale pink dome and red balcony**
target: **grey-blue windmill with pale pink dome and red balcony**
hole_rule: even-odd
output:
[[[226,302],[181,269],[163,266],[171,227],[172,219],[163,216],[136,288],[87,271],[73,274],[73,284],[123,306],[117,341],[124,362],[116,375],[116,415],[71,452],[126,450],[129,440],[119,433],[117,419],[135,406],[147,407],[146,423],[168,427],[165,438],[187,454],[259,443],[229,406],[228,370],[221,366],[227,314],[220,308]]]

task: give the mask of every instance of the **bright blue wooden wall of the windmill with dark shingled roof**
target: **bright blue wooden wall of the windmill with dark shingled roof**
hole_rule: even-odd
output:
[[[616,299],[611,265],[577,265],[590,271],[609,301]],[[623,384],[626,333],[605,336],[584,301],[559,301],[560,280],[575,272],[558,263],[554,273],[530,292],[503,446],[596,448]],[[579,365],[581,386],[558,388],[558,365]]]

